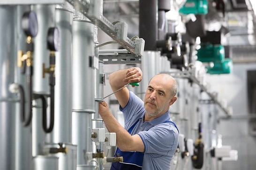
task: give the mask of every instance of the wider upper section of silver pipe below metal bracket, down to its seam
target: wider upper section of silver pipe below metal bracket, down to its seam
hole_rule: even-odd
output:
[[[79,112],[95,112],[93,29],[90,22],[73,21],[73,110]]]

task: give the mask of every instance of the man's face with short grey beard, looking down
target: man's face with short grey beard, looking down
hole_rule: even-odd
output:
[[[160,116],[169,110],[172,81],[163,75],[151,79],[144,97],[146,114]]]

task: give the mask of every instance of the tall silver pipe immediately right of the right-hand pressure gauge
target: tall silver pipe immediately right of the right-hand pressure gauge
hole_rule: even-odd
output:
[[[55,52],[55,106],[51,143],[71,143],[72,112],[72,22],[71,11],[56,8],[60,49]]]

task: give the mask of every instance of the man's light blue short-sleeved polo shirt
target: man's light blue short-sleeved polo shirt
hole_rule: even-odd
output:
[[[133,92],[127,105],[120,108],[123,112],[125,129],[129,129],[139,120],[131,135],[140,135],[144,143],[142,170],[169,170],[173,155],[178,147],[178,129],[170,122],[169,112],[162,116],[144,122],[144,103]]]

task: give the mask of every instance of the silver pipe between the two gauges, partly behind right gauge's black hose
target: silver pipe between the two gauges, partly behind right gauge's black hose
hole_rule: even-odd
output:
[[[49,64],[50,51],[47,49],[48,28],[53,27],[54,5],[35,5],[34,11],[38,17],[38,35],[34,39],[33,56],[33,92],[37,94],[49,94],[48,79],[45,74],[43,78],[43,63]],[[45,132],[42,127],[42,105],[39,99],[35,99],[32,118],[32,155],[42,155],[45,141]],[[49,137],[48,137],[49,138]]]

